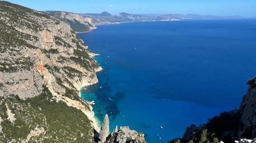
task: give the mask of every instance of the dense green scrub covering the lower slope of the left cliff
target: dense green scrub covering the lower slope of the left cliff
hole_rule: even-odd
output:
[[[44,142],[91,142],[93,131],[87,116],[62,101],[52,101],[51,92],[47,87],[43,88],[39,96],[27,100],[20,100],[17,96],[1,98],[0,116],[4,121],[0,142],[10,142],[11,139],[21,142],[37,125],[46,131]],[[15,114],[13,123],[7,120],[5,103]]]

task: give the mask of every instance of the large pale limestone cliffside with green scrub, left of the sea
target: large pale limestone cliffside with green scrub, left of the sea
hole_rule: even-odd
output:
[[[92,142],[79,90],[100,67],[70,25],[0,1],[0,43],[0,142]]]

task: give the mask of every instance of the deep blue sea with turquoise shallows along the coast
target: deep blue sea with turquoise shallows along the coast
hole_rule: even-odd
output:
[[[100,54],[95,59],[104,69],[82,97],[96,102],[99,120],[109,114],[111,131],[130,126],[149,143],[182,137],[190,124],[240,106],[256,72],[255,25],[195,20],[97,26],[78,35]]]

